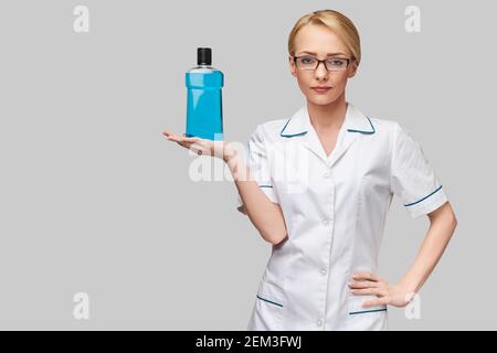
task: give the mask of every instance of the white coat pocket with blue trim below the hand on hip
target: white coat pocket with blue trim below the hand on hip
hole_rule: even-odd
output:
[[[387,330],[388,308],[385,304],[364,308],[362,303],[376,296],[352,296],[348,299],[348,330]]]

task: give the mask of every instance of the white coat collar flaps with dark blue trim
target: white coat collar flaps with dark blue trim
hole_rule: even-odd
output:
[[[310,126],[309,113],[307,105],[298,109],[285,124],[279,135],[282,137],[302,136],[308,132]],[[348,132],[359,132],[371,135],[376,132],[371,119],[362,114],[350,103],[347,103],[346,117],[343,128]]]

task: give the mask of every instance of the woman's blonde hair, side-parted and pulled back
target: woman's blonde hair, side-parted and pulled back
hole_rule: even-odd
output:
[[[295,55],[295,36],[307,24],[325,25],[334,31],[343,41],[352,54],[352,60],[359,65],[361,61],[359,32],[349,18],[335,10],[314,11],[298,19],[288,36],[288,53],[292,56]]]

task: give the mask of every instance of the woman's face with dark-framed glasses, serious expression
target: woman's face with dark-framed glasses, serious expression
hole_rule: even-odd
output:
[[[295,38],[295,56],[309,55],[325,60],[328,53],[339,53],[335,55],[338,57],[351,56],[343,42],[326,26],[308,24],[300,29]],[[356,62],[350,63],[343,71],[327,71],[324,63],[320,63],[315,71],[305,71],[296,67],[292,56],[288,58],[292,75],[297,77],[300,90],[316,105],[328,105],[339,98],[345,93],[347,79],[357,72]],[[318,93],[311,88],[316,86],[329,86],[331,89]]]

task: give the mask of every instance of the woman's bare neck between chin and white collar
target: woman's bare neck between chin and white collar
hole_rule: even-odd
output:
[[[316,105],[307,100],[307,110],[316,131],[339,130],[347,111],[345,95],[328,105]]]

